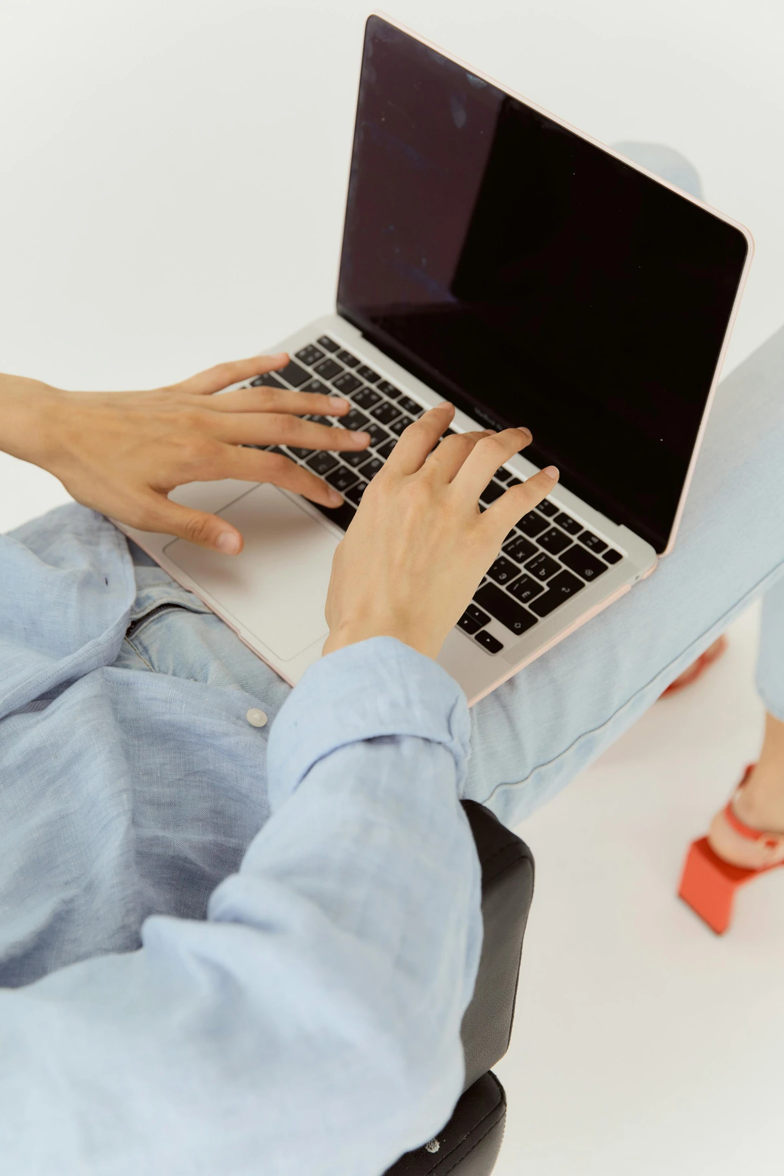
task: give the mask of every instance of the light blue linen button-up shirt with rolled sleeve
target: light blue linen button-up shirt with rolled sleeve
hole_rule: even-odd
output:
[[[93,512],[0,536],[0,1171],[377,1176],[462,1088],[465,699],[380,637],[257,729],[135,600]]]

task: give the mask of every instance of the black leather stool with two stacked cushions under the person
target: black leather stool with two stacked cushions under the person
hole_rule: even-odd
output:
[[[507,1096],[490,1067],[507,1053],[511,1036],[534,857],[489,809],[474,801],[463,801],[463,808],[482,864],[484,923],[476,987],[462,1027],[465,1087],[443,1130],[401,1156],[384,1176],[489,1176],[503,1138]]]

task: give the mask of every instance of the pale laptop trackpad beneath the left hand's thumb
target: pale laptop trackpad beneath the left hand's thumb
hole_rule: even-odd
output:
[[[337,536],[274,486],[257,486],[216,513],[244,536],[242,554],[175,539],[163,548],[172,563],[281,661],[323,641]]]

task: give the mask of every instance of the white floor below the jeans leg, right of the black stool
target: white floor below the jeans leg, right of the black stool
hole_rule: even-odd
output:
[[[517,830],[537,882],[497,1176],[784,1170],[784,870],[741,893],[723,938],[675,895],[758,748],[757,621]]]

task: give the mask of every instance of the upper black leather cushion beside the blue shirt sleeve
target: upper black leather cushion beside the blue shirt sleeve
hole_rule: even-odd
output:
[[[462,1025],[465,1087],[473,1085],[509,1048],[520,955],[534,897],[534,857],[482,804],[463,801],[482,864],[484,941],[474,996]]]

